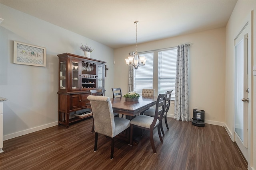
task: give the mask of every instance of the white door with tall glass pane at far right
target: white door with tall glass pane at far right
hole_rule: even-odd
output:
[[[247,26],[248,27],[248,26]],[[248,32],[245,29],[235,39],[235,142],[248,160]]]

